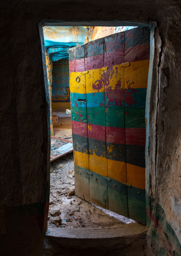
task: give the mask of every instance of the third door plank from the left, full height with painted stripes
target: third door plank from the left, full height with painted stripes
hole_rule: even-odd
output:
[[[108,209],[128,217],[124,134],[124,37],[118,33],[105,37],[104,91],[108,159]]]

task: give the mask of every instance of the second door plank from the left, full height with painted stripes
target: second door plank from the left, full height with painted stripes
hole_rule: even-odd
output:
[[[92,203],[107,208],[104,71],[100,70],[103,67],[103,42],[98,39],[85,45],[85,65],[89,71],[86,74],[89,171],[92,173],[89,175],[89,195]]]

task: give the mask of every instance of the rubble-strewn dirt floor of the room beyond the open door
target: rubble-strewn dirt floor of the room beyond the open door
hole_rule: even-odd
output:
[[[59,123],[53,126],[55,136],[72,136],[71,115],[53,112],[59,116]],[[69,139],[71,140],[71,139]],[[55,149],[67,142],[51,138]],[[53,155],[51,153],[51,155]],[[74,158],[73,153],[51,162],[50,169],[50,206],[48,227],[119,227],[130,222],[129,218],[105,210],[74,195]],[[69,195],[70,194],[70,195]]]

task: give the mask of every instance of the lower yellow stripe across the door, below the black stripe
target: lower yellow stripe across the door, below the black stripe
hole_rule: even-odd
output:
[[[122,183],[126,183],[127,174],[128,184],[139,189],[145,189],[145,168],[77,151],[74,151],[74,163],[79,167],[94,171],[102,176],[107,176],[108,169],[108,177]]]

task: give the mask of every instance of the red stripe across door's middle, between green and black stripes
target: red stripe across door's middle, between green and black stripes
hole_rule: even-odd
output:
[[[105,130],[106,129],[106,130]],[[146,143],[146,129],[145,128],[126,128],[124,134],[124,128],[119,127],[105,127],[97,126],[94,124],[81,123],[77,121],[72,121],[72,133],[81,135],[83,137],[91,139],[97,139],[101,141],[106,141],[110,143],[126,144],[128,145],[138,145],[145,146]]]

